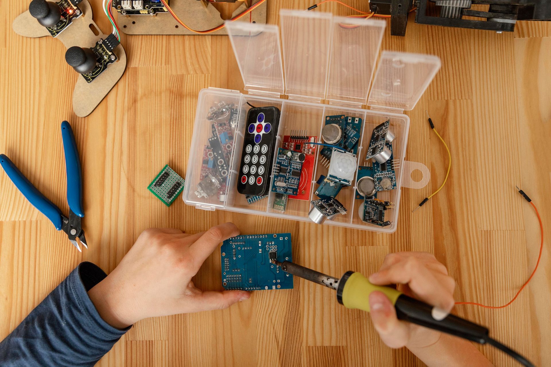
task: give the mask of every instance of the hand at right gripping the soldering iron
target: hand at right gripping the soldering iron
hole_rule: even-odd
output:
[[[381,269],[371,274],[369,281],[379,286],[398,284],[399,291],[435,306],[433,317],[437,320],[444,319],[455,304],[455,281],[433,254],[388,254]],[[369,304],[373,325],[382,341],[391,348],[424,348],[436,343],[441,336],[439,331],[398,320],[394,305],[381,292],[372,292]]]

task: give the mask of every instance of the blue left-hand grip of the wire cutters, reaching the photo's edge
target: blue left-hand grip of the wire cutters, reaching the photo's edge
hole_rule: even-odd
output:
[[[0,165],[2,165],[2,168],[4,168],[4,171],[6,171],[15,187],[21,191],[21,194],[23,194],[36,209],[52,221],[56,229],[60,231],[63,224],[63,214],[61,210],[53,204],[53,202],[48,200],[46,196],[42,195],[5,154],[0,154]]]

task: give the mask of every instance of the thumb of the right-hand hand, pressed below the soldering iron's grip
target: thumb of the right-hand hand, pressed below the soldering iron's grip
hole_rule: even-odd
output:
[[[382,341],[391,348],[401,348],[409,339],[408,326],[396,317],[396,309],[379,291],[369,295],[371,321]]]

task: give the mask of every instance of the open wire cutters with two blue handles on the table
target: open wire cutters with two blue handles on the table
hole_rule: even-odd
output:
[[[21,194],[30,201],[33,206],[44,214],[58,231],[67,233],[69,241],[80,252],[77,238],[85,248],[88,248],[82,229],[82,169],[78,156],[77,143],[74,140],[73,129],[67,121],[61,123],[61,137],[65,152],[65,168],[67,172],[67,202],[69,204],[69,217],[63,215],[61,209],[48,200],[33,184],[24,176],[19,168],[4,154],[0,155],[0,165],[8,174],[8,177],[21,191]]]

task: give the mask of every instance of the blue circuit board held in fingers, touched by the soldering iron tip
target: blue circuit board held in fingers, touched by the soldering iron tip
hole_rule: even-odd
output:
[[[226,239],[220,252],[224,289],[293,288],[293,275],[269,260],[269,254],[275,252],[279,262],[293,261],[290,233],[238,235]]]

